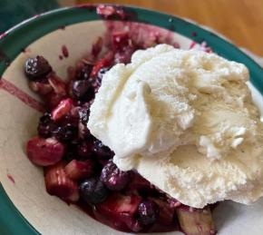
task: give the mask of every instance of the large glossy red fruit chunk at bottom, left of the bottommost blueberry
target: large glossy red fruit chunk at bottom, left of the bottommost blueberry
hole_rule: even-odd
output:
[[[134,216],[140,202],[140,196],[112,194],[106,201],[98,204],[96,210],[106,216],[108,220],[114,221],[115,227],[121,229],[127,226],[130,230],[138,231],[141,228]]]

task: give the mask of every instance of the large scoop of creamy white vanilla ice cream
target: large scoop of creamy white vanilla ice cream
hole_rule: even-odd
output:
[[[248,204],[263,194],[263,124],[247,81],[243,64],[160,44],[105,73],[88,128],[183,204]]]

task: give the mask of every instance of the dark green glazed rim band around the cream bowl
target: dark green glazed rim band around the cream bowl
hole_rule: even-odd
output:
[[[161,26],[162,28],[187,36],[199,43],[206,41],[217,54],[229,60],[246,64],[250,73],[251,83],[253,83],[261,94],[263,93],[263,79],[261,78],[263,69],[247,54],[240,51],[236,45],[231,44],[219,35],[197,24],[193,24],[174,15],[166,15],[160,12],[128,5],[123,6],[123,8],[125,11],[132,12],[132,14],[136,15],[134,19],[132,18],[132,21]],[[0,40],[0,57],[5,55],[5,60],[0,62],[0,77],[5,72],[7,64],[13,61],[15,57],[21,53],[23,48],[33,43],[44,34],[59,29],[61,26],[101,19],[102,17],[96,14],[96,5],[86,5],[85,7],[74,6],[56,9],[42,15],[34,16],[21,24],[17,24],[7,31],[6,35]],[[193,34],[193,32],[196,35]],[[15,205],[10,201],[1,184],[0,205],[1,234],[39,234],[39,232],[35,230],[15,208]]]

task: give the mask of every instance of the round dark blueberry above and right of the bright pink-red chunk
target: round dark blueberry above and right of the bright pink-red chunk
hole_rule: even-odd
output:
[[[88,80],[73,82],[73,95],[77,100],[90,101],[93,99],[93,85]]]

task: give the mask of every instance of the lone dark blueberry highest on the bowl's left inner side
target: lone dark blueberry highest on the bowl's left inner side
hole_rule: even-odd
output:
[[[24,64],[24,73],[30,80],[40,80],[46,77],[52,71],[43,56],[37,55],[34,58],[28,58]]]

